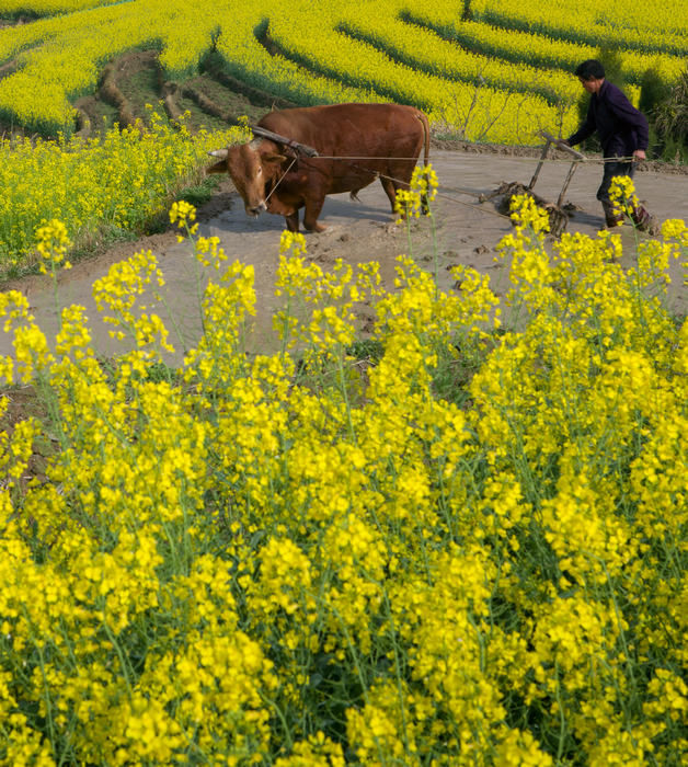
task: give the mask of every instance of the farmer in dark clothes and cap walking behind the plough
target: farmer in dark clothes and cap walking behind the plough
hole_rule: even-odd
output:
[[[583,61],[575,75],[592,98],[585,121],[565,144],[581,144],[597,131],[605,158],[597,199],[603,204],[607,226],[616,227],[623,222],[623,216],[614,211],[609,199],[611,179],[615,175],[632,178],[634,163],[645,159],[647,119],[616,85],[605,80],[605,68],[597,59]],[[631,218],[642,231],[651,230],[653,220],[642,205],[633,208]]]

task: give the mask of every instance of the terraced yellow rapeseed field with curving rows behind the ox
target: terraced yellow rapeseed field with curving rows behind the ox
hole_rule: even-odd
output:
[[[57,15],[0,30],[0,64],[16,58],[19,66],[0,80],[0,115],[69,135],[71,102],[93,90],[108,59],[138,46],[159,49],[172,80],[193,75],[215,50],[227,71],[299,103],[413,103],[470,139],[532,144],[540,127],[572,129],[572,70],[600,47],[618,51],[634,84],[650,69],[675,82],[685,66],[686,0],[652,13],[631,0],[599,8],[599,0],[561,9],[532,0],[36,2],[38,15]]]

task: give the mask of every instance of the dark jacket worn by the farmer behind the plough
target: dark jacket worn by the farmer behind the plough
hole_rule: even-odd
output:
[[[631,157],[637,149],[647,149],[645,115],[607,80],[590,96],[583,125],[566,142],[581,144],[596,130],[605,157]]]

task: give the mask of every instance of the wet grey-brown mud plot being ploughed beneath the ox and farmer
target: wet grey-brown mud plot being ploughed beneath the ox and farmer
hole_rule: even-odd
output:
[[[471,154],[460,151],[433,151],[433,165],[440,182],[442,196],[435,210],[437,221],[436,245],[428,222],[422,220],[413,236],[413,255],[428,270],[437,268],[440,287],[448,288],[454,279],[447,267],[454,264],[468,264],[491,276],[493,289],[505,289],[504,270],[495,264],[494,247],[511,230],[508,220],[496,215],[492,203],[478,204],[474,197],[459,194],[455,190],[468,190],[475,194],[491,192],[504,181],[528,183],[535,170],[532,158],[503,157],[498,154]],[[551,163],[543,168],[538,179],[536,192],[543,198],[555,201],[567,163]],[[604,225],[601,209],[595,201],[599,183],[600,167],[590,163],[582,165],[569,187],[566,199],[580,210],[574,213],[567,231],[580,231],[594,237]],[[688,175],[657,172],[637,174],[635,185],[641,199],[645,199],[650,210],[660,219],[688,219]],[[387,285],[394,277],[394,257],[408,253],[408,239],[403,227],[392,224],[387,197],[379,184],[372,184],[359,194],[360,203],[352,202],[348,195],[334,195],[325,202],[321,222],[328,231],[308,234],[309,257],[323,268],[333,265],[336,257],[356,264],[371,260],[379,261],[381,274]],[[279,236],[284,219],[264,214],[257,219],[248,218],[241,201],[233,194],[219,194],[205,211],[205,222],[200,233],[217,236],[230,259],[239,259],[255,267],[255,291],[257,314],[254,328],[248,340],[252,351],[274,348],[275,339],[271,331],[272,312],[278,308],[279,299],[274,297],[274,281],[278,263]],[[624,255],[623,263],[633,263],[634,232],[631,227],[621,228]],[[111,264],[142,249],[151,249],[158,255],[164,272],[167,302],[172,307],[175,321],[170,320],[164,306],[156,311],[170,329],[171,340],[177,354],[170,358],[172,364],[181,360],[185,348],[192,347],[200,333],[196,271],[187,242],[177,243],[173,231],[152,236],[138,242],[118,245],[113,251],[96,259],[83,261],[59,277],[59,304],[80,304],[87,308],[91,320],[93,346],[99,354],[111,356],[121,353],[122,344],[108,336],[108,328],[101,321],[91,297],[93,281],[105,274]],[[434,253],[437,253],[435,257]],[[672,267],[670,306],[685,313],[688,310],[688,291],[681,286],[680,267]],[[46,277],[34,276],[7,284],[4,289],[20,289],[30,299],[32,311],[48,340],[57,331],[57,311],[53,287]],[[153,309],[152,300],[142,304]],[[180,334],[173,327],[180,329]],[[11,353],[11,339],[0,334],[0,354]]]

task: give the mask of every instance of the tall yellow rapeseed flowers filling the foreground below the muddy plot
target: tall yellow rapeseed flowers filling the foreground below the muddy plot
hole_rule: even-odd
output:
[[[80,307],[48,345],[1,296],[0,373],[49,407],[10,427],[0,399],[0,760],[680,764],[688,325],[663,290],[688,228],[624,272],[618,234],[548,248],[513,215],[502,302],[409,255],[391,290],[325,272],[286,232],[271,356],[210,238],[179,370],[137,304],[150,253],[94,286],[129,333],[107,364]]]

